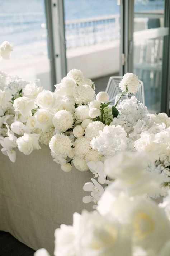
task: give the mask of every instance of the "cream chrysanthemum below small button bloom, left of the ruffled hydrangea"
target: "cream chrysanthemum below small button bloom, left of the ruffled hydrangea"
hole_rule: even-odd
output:
[[[84,156],[91,150],[90,141],[82,136],[77,138],[74,142],[75,156]]]

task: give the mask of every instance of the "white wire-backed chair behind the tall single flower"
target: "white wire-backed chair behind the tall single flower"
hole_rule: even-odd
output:
[[[118,93],[121,93],[121,89],[119,88],[119,83],[121,81],[122,77],[110,77],[109,82],[107,84],[105,92],[109,95],[109,101],[114,104],[115,97]],[[132,94],[129,94],[129,96],[132,96]],[[145,106],[145,96],[144,96],[144,88],[143,88],[143,82],[140,80],[140,86],[138,88],[137,93],[134,94],[134,96]]]

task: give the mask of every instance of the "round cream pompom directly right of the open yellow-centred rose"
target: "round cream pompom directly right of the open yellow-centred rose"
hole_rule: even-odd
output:
[[[52,122],[58,131],[65,132],[72,128],[74,118],[70,111],[60,110],[54,115]]]

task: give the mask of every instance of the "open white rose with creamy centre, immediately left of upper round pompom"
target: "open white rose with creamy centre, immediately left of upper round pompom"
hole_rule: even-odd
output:
[[[52,125],[52,115],[48,110],[38,109],[34,118],[36,120],[35,127],[42,129],[43,132],[46,132]]]

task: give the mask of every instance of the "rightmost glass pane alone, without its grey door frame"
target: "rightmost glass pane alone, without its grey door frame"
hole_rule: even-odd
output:
[[[164,1],[134,1],[133,71],[143,81],[145,105],[151,113],[161,108]]]

